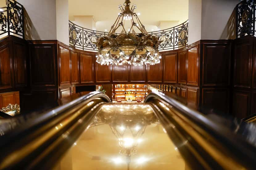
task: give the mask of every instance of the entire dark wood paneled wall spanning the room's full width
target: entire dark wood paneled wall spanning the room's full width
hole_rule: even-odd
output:
[[[95,52],[77,50],[57,40],[25,41],[8,36],[0,40],[0,93],[20,91],[21,109],[24,103],[40,108],[42,103],[75,93],[77,86],[155,83],[225,113],[230,112],[231,104],[237,107],[244,99],[241,107],[246,109],[241,110],[246,113],[233,109],[243,117],[256,110],[254,41],[245,37],[235,40],[233,46],[232,40],[201,40],[161,52],[160,64],[135,67],[102,66],[95,62]]]

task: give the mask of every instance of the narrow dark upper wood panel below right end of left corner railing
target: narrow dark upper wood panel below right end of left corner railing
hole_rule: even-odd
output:
[[[13,42],[14,84],[15,87],[27,87],[27,45]]]

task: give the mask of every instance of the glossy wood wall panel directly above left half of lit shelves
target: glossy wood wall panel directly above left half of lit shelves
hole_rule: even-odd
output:
[[[113,82],[128,82],[128,64],[115,65],[113,64],[112,81]]]

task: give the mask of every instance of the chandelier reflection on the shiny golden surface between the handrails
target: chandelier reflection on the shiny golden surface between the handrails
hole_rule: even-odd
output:
[[[113,109],[115,108],[115,109]],[[151,106],[145,104],[118,104],[116,106],[105,104],[94,118],[92,126],[109,124],[112,133],[118,139],[118,144],[125,158],[117,159],[116,162],[125,162],[130,169],[131,156],[137,153],[136,147],[142,141],[142,135],[147,126],[158,123],[158,119]],[[90,126],[90,127],[92,127]],[[143,157],[140,159],[143,160]]]

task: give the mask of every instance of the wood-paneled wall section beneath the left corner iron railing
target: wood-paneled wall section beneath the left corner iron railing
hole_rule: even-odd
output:
[[[0,40],[0,93],[4,93],[0,108],[11,101],[12,104],[19,104],[22,95],[29,91],[27,44],[27,41],[15,36],[7,36]],[[22,103],[21,101],[21,109],[24,108]]]

